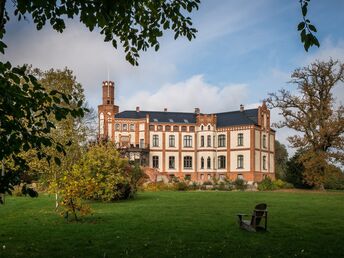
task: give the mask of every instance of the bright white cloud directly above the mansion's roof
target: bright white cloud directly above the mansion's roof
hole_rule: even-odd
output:
[[[163,110],[193,112],[199,107],[201,112],[211,113],[239,109],[245,104],[248,89],[245,84],[218,86],[207,83],[202,75],[175,84],[165,84],[156,92],[139,91],[131,97],[119,98],[121,110]]]

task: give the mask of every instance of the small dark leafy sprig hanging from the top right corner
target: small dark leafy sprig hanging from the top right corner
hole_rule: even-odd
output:
[[[317,32],[317,29],[307,18],[309,2],[310,0],[300,0],[303,21],[297,26],[297,30],[300,31],[301,42],[303,43],[306,51],[308,51],[309,47],[312,46],[320,47],[320,43],[317,37],[314,35],[314,33]]]

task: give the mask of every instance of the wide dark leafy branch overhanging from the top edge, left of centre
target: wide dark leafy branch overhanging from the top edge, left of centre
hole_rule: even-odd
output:
[[[198,9],[199,0],[150,1],[25,1],[14,2],[14,15],[18,20],[31,16],[37,30],[46,23],[58,32],[66,28],[65,19],[80,18],[90,31],[99,28],[104,41],[117,48],[120,43],[126,59],[138,65],[140,51],[152,47],[158,51],[158,39],[163,31],[171,30],[174,38],[195,38],[197,30],[192,27],[191,18],[186,14]],[[2,17],[0,17],[2,18]],[[5,21],[8,20],[5,19]]]

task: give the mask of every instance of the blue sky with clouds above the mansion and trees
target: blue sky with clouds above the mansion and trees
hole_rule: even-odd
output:
[[[7,1],[10,15],[11,4]],[[199,107],[203,113],[238,110],[240,104],[255,108],[270,92],[294,91],[288,81],[296,68],[330,57],[344,62],[343,11],[342,0],[311,1],[308,17],[321,46],[305,52],[296,29],[302,19],[298,0],[203,0],[191,15],[196,39],[174,40],[166,32],[159,51],[141,53],[138,67],[78,19],[67,20],[60,34],[49,25],[37,31],[30,19],[18,22],[11,15],[5,59],[41,69],[70,68],[94,108],[101,104],[102,81],[108,76],[115,82],[120,111],[136,106],[186,112]],[[343,88],[335,89],[338,103],[344,102]],[[273,110],[273,122],[279,119]],[[286,138],[293,133],[278,129],[277,139],[288,146]]]

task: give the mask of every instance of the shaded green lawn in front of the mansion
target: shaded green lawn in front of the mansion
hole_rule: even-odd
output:
[[[343,257],[344,193],[157,192],[92,203],[67,223],[52,196],[0,206],[0,257]],[[237,213],[269,208],[268,233],[240,230]],[[2,246],[6,248],[3,249]]]

